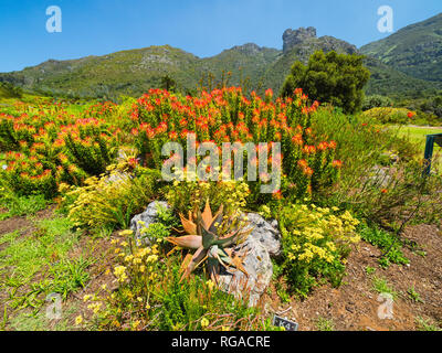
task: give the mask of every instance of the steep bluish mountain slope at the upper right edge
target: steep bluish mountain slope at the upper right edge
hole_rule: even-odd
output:
[[[442,82],[442,13],[364,45],[360,51],[410,76]]]

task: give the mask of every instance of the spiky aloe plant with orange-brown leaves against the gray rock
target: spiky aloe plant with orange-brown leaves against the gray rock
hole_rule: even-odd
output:
[[[218,282],[220,265],[227,269],[238,269],[248,275],[243,267],[243,258],[233,253],[233,247],[243,243],[252,228],[245,229],[244,224],[239,224],[238,218],[223,218],[223,206],[221,205],[215,215],[212,215],[209,200],[206,202],[204,211],[201,213],[189,212],[189,218],[180,214],[183,232],[188,235],[166,238],[179,248],[196,250],[188,254],[181,265],[181,280],[208,260],[208,270],[211,279]]]

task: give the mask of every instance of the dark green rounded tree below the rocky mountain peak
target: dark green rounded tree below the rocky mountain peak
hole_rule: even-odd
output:
[[[303,88],[311,99],[330,103],[347,114],[360,110],[364,86],[370,72],[364,66],[364,56],[315,52],[305,66],[295,62],[286,77],[281,95],[291,96],[295,88]]]

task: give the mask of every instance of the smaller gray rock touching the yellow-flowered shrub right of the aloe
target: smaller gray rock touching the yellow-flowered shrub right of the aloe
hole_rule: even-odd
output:
[[[249,227],[253,227],[249,237],[260,242],[261,245],[269,252],[271,257],[281,255],[281,233],[277,227],[277,221],[273,220],[271,223],[266,222],[257,213],[249,213],[246,215],[250,222]]]

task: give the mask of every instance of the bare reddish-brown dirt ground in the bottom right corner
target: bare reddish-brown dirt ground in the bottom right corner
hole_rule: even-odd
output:
[[[406,229],[404,238],[415,242],[419,253],[404,248],[410,259],[406,266],[391,265],[382,269],[378,265],[380,250],[361,242],[351,252],[347,265],[347,276],[339,288],[322,286],[304,301],[293,300],[281,303],[276,296],[271,311],[281,313],[299,324],[299,331],[318,329],[318,320],[333,323],[334,330],[403,331],[417,330],[418,318],[433,323],[442,322],[442,235],[435,226],[419,225]],[[366,268],[376,268],[367,274]],[[372,276],[385,278],[398,293],[392,303],[391,318],[380,319],[379,307],[385,299],[379,298],[372,287]],[[410,298],[408,291],[414,288],[421,301]],[[382,317],[382,315],[380,315]]]

